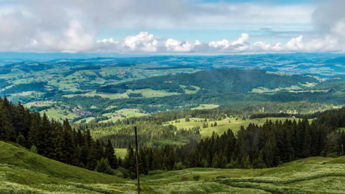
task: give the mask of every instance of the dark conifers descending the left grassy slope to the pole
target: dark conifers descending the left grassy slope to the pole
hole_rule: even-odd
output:
[[[74,130],[68,120],[60,123],[43,114],[29,112],[0,98],[0,140],[16,142],[34,153],[66,164],[109,174],[128,173],[115,156],[110,140],[94,140],[90,130]],[[115,169],[118,169],[115,171]]]

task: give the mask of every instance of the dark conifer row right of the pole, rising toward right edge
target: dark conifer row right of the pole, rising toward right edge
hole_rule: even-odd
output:
[[[150,170],[193,167],[268,168],[311,156],[337,157],[345,143],[345,132],[338,130],[345,126],[344,119],[342,108],[325,112],[311,123],[307,119],[267,121],[263,126],[241,126],[236,134],[228,130],[178,148],[140,148],[139,170],[148,174]],[[129,147],[124,163],[131,173],[135,172],[134,160]]]

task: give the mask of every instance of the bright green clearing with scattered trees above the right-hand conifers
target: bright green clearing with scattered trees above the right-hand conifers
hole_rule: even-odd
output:
[[[217,126],[216,127],[211,127],[211,123],[214,123],[214,121],[208,121],[208,122],[194,122],[194,120],[202,120],[200,118],[191,118],[192,121],[190,122],[186,122],[185,119],[180,119],[180,123],[175,123],[175,121],[170,121],[169,123],[176,126],[178,129],[180,128],[192,128],[192,127],[196,127],[196,126],[200,126],[202,128],[203,124],[208,123],[209,127],[208,128],[204,128],[201,129],[200,134],[203,136],[211,136],[213,132],[217,133],[217,134],[222,134],[224,131],[227,131],[228,129],[231,129],[233,132],[236,132],[241,125],[243,125],[244,127],[247,127],[249,125],[249,123],[253,123],[253,124],[257,124],[258,126],[263,125],[266,120],[272,120],[272,122],[276,121],[276,120],[281,120],[282,122],[284,122],[286,119],[288,120],[293,120],[291,118],[263,118],[263,119],[252,119],[252,120],[245,120],[242,121],[242,119],[238,118],[238,120],[236,121],[236,119],[227,119],[227,120],[221,120],[221,121],[216,121],[217,122]],[[309,122],[311,122],[312,119],[309,120]]]

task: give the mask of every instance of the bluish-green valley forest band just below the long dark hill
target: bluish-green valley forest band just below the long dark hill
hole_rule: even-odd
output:
[[[104,110],[108,106],[117,106],[119,109],[140,108],[148,113],[191,109],[201,104],[215,104],[223,109],[230,108],[254,113],[262,111],[263,107],[265,107],[265,112],[269,113],[278,113],[280,110],[297,110],[301,114],[308,114],[342,105],[345,92],[329,90],[328,92],[297,93],[282,91],[273,94],[180,94],[154,98],[115,100],[101,98],[100,96],[73,96],[72,98],[66,98],[62,95],[62,93],[53,94],[49,99],[74,106],[78,104],[85,109],[95,106],[100,110]]]

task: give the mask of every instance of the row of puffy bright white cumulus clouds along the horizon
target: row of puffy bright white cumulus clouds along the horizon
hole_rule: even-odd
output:
[[[314,39],[303,42],[303,36],[292,38],[286,44],[257,41],[249,43],[249,35],[241,34],[235,41],[223,39],[202,43],[196,40],[194,43],[178,41],[174,39],[158,38],[147,32],[140,32],[136,36],[128,36],[120,41],[104,39],[97,41],[101,52],[205,52],[205,53],[239,53],[239,52],[318,52],[318,51],[341,51],[333,45],[336,42],[331,37]],[[106,48],[106,49],[104,49]]]

